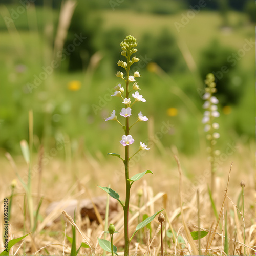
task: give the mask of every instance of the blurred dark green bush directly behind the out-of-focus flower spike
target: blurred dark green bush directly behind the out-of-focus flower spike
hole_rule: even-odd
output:
[[[232,84],[232,76],[235,70],[238,76],[237,61],[236,57],[234,57],[235,52],[228,47],[222,46],[215,39],[201,53],[199,62],[201,77],[205,79],[208,73],[215,75],[217,95],[223,105],[236,104],[243,92],[241,86],[235,87]]]

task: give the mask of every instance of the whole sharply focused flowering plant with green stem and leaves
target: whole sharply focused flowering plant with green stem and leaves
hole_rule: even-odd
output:
[[[161,211],[156,212],[156,214],[152,215],[151,217],[148,217],[146,220],[138,224],[138,226],[135,229],[135,232],[133,233],[132,237],[129,238],[129,204],[130,204],[130,193],[131,193],[131,187],[132,184],[142,178],[145,174],[151,173],[151,170],[145,170],[143,173],[139,173],[134,175],[133,177],[129,177],[129,161],[131,158],[136,155],[141,150],[150,150],[150,148],[147,148],[147,145],[145,143],[142,143],[140,141],[139,143],[136,143],[136,141],[133,139],[130,129],[133,125],[135,125],[139,121],[148,121],[148,118],[146,116],[142,115],[142,112],[138,113],[137,121],[135,121],[132,125],[130,125],[130,118],[133,116],[132,106],[135,103],[146,102],[146,99],[143,98],[142,95],[137,90],[140,90],[138,86],[138,82],[136,82],[135,78],[140,77],[140,73],[138,71],[134,72],[133,74],[130,74],[130,68],[133,65],[133,63],[136,63],[139,61],[136,56],[132,55],[137,52],[137,42],[136,39],[129,35],[126,36],[123,42],[120,44],[121,46],[121,55],[126,58],[126,61],[119,60],[117,62],[117,65],[123,68],[126,72],[125,77],[123,72],[118,71],[116,76],[122,79],[122,82],[124,83],[124,87],[122,87],[122,84],[118,84],[118,86],[114,87],[116,90],[114,92],[113,97],[119,97],[121,100],[121,103],[124,104],[124,108],[121,109],[120,114],[120,121],[118,120],[116,116],[116,110],[112,111],[112,114],[110,117],[106,118],[106,121],[117,121],[124,130],[124,135],[122,136],[120,143],[124,146],[124,158],[121,157],[120,154],[116,153],[109,153],[109,155],[117,156],[120,158],[124,163],[124,170],[125,170],[125,203],[123,204],[120,199],[118,193],[116,193],[113,189],[108,187],[100,187],[104,191],[106,191],[111,197],[118,200],[118,202],[123,207],[124,212],[124,256],[129,255],[129,245],[134,237],[135,233],[140,230],[141,228],[145,227],[148,223],[150,223],[157,214],[159,214]],[[130,96],[130,93],[132,92],[132,97]],[[137,115],[136,115],[137,116]],[[122,124],[124,122],[124,124]],[[138,145],[138,150],[135,151],[135,153],[132,156],[129,156],[129,146],[132,144]],[[134,146],[134,145],[133,145]]]

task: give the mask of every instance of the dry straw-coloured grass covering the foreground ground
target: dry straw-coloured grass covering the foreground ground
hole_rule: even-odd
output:
[[[255,189],[254,189],[254,169],[252,153],[244,146],[238,147],[238,151],[229,156],[228,159],[220,166],[221,172],[216,180],[216,194],[214,199],[216,202],[217,211],[221,211],[221,206],[224,200],[225,189],[227,186],[229,166],[233,161],[232,171],[229,180],[229,187],[227,191],[227,198],[224,203],[224,211],[227,212],[227,230],[229,241],[229,254],[241,254],[244,251],[243,243],[243,218],[238,210],[241,209],[241,202],[237,205],[239,194],[241,191],[240,181],[245,181],[245,233],[246,233],[246,253],[249,255],[254,254],[256,247],[256,224],[255,224]],[[242,152],[242,153],[241,153]],[[24,245],[26,254],[43,254],[48,253],[53,255],[69,254],[71,244],[65,239],[65,233],[72,236],[71,224],[67,219],[62,216],[62,209],[52,212],[52,215],[46,216],[45,210],[53,201],[67,200],[67,199],[81,199],[89,198],[91,196],[98,196],[102,191],[97,188],[98,185],[110,186],[118,191],[120,198],[124,198],[123,174],[122,164],[114,158],[105,160],[101,154],[99,157],[93,158],[89,154],[84,154],[84,157],[76,159],[72,162],[71,166],[67,165],[65,161],[59,159],[52,159],[49,164],[42,168],[41,173],[41,188],[38,197],[38,174],[33,177],[33,191],[34,202],[38,203],[41,196],[44,196],[44,201],[40,210],[42,219],[38,223],[37,229],[33,235],[25,239],[24,244],[19,248],[18,245],[14,246],[13,253],[18,248],[16,255],[23,255]],[[142,172],[144,169],[151,169],[154,175],[147,175],[138,183],[135,183],[132,188],[131,196],[131,213],[130,213],[130,231],[135,229],[138,224],[138,216],[143,214],[152,215],[155,211],[165,208],[165,216],[167,217],[163,223],[163,239],[164,239],[164,253],[177,254],[177,255],[193,255],[194,250],[198,250],[198,240],[192,241],[188,238],[191,231],[198,230],[198,206],[197,206],[197,190],[199,190],[200,198],[200,228],[201,230],[211,230],[211,234],[216,228],[215,236],[212,238],[210,245],[209,235],[202,238],[201,253],[205,254],[208,244],[208,253],[220,254],[223,252],[223,230],[218,225],[217,220],[212,211],[209,195],[207,192],[207,182],[210,177],[203,179],[202,174],[207,174],[205,169],[208,167],[207,161],[202,161],[202,155],[187,158],[180,156],[182,170],[182,208],[180,208],[179,201],[179,172],[172,155],[167,153],[162,157],[153,157],[151,153],[143,157],[136,164],[136,167],[131,169],[131,175]],[[205,156],[206,157],[206,156]],[[203,159],[205,159],[203,157]],[[16,158],[16,164],[19,169],[19,174],[24,176],[27,173],[27,166],[24,164],[22,158]],[[14,172],[10,163],[2,160],[4,164],[3,185],[1,189],[1,207],[3,208],[3,199],[10,195],[10,183],[14,176]],[[118,170],[120,169],[120,171]],[[190,177],[188,179],[187,177]],[[199,180],[199,182],[198,182]],[[143,190],[142,206],[138,208],[137,191],[139,188]],[[23,235],[23,212],[24,212],[24,190],[21,186],[17,186],[16,194],[13,198],[12,216],[10,220],[10,238],[18,238]],[[3,211],[2,211],[3,212]],[[3,215],[1,212],[1,215]],[[62,221],[53,222],[50,226],[47,224],[53,221],[57,216],[62,216]],[[221,211],[222,216],[222,211]],[[1,221],[3,216],[1,216]],[[121,211],[109,222],[112,222],[119,233],[114,235],[114,244],[118,247],[119,254],[122,254],[123,246],[123,213]],[[221,217],[220,223],[223,223]],[[225,223],[225,222],[224,222]],[[77,245],[81,242],[87,241],[96,254],[102,254],[103,251],[98,245],[97,237],[103,238],[102,225],[95,222],[90,223],[88,218],[77,218],[77,227],[81,230],[81,234],[77,232]],[[185,226],[184,226],[185,224]],[[26,218],[26,231],[30,232],[29,218]],[[160,248],[160,234],[154,236],[156,230],[159,230],[159,222],[157,218],[152,222],[152,233],[149,234],[144,230],[143,241],[138,243],[134,238],[131,243],[131,255],[146,254],[157,255],[161,252]],[[184,228],[187,228],[186,229]],[[181,244],[179,241],[172,240],[166,237],[166,231],[172,228],[184,239],[185,243]],[[1,236],[2,238],[3,236]],[[190,241],[189,241],[190,240]],[[3,241],[1,247],[3,247]],[[191,245],[191,243],[193,243]],[[20,244],[20,243],[19,243]],[[209,246],[210,245],[210,246]],[[47,249],[47,251],[44,249]],[[77,247],[78,248],[78,247]],[[82,248],[79,254],[91,255],[91,249]]]

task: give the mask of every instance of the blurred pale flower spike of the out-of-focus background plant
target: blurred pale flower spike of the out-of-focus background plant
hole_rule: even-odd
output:
[[[217,117],[220,116],[218,112],[219,100],[213,96],[214,93],[217,92],[215,77],[213,74],[208,74],[205,80],[206,88],[205,94],[203,95],[203,99],[205,100],[203,104],[204,117],[202,119],[202,123],[205,124],[204,131],[207,133],[206,139],[210,141],[210,147],[207,148],[207,151],[211,153],[211,155],[219,155],[220,151],[213,151],[213,146],[217,143],[216,139],[220,137],[220,134],[217,132],[219,129],[219,123],[215,121]]]

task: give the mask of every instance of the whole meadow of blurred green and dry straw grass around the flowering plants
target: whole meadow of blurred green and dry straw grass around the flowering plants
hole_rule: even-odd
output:
[[[124,253],[120,205],[115,215],[97,221],[81,218],[79,210],[83,199],[107,199],[98,186],[125,199],[123,163],[107,155],[124,158],[124,131],[105,119],[123,107],[111,95],[123,82],[116,63],[124,60],[119,44],[127,35],[137,39],[140,61],[132,73],[141,75],[136,81],[146,99],[133,112],[149,119],[133,127],[133,138],[150,147],[132,158],[130,176],[153,172],[131,189],[130,235],[139,222],[165,209],[165,255],[254,255],[255,40],[248,16],[230,10],[224,26],[212,10],[192,17],[190,9],[159,15],[105,8],[88,9],[78,25],[73,19],[70,25],[63,17],[81,16],[67,3],[60,11],[31,4],[17,18],[13,11],[20,5],[1,6],[0,223],[5,227],[8,202],[8,241],[29,235],[0,255],[76,255],[82,242],[78,255],[111,255],[97,239],[109,240],[104,230],[110,223],[118,231],[117,253]],[[75,69],[78,60],[82,68]],[[216,77],[220,115],[214,189],[202,123],[207,73]],[[76,231],[63,205],[48,212],[51,203],[67,206],[71,200],[77,200]],[[156,217],[136,234],[131,255],[161,255],[159,225]],[[1,252],[5,229],[0,234]]]

